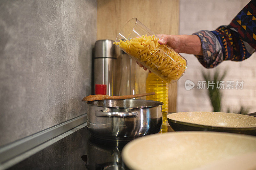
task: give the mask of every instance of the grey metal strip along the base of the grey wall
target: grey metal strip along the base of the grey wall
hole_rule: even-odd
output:
[[[26,152],[37,145],[40,145],[60,134],[75,128],[78,125],[86,122],[86,115],[78,116],[69,121],[60,123],[59,125],[53,126],[51,128],[45,129],[41,132],[35,133],[31,136],[17,140],[11,144],[4,145],[0,148],[0,164],[11,159],[23,152]]]

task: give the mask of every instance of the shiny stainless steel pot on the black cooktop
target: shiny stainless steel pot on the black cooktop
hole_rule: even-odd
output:
[[[98,138],[132,140],[162,128],[164,103],[160,101],[96,100],[87,104],[87,127]]]

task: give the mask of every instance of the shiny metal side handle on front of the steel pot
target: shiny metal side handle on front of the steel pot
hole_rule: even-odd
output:
[[[102,110],[96,111],[97,117],[137,117],[136,112],[103,112]]]

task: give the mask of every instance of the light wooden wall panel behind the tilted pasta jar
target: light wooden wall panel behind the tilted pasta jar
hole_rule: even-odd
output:
[[[178,34],[179,0],[98,0],[97,40],[115,40],[122,26],[138,18],[154,33]],[[140,92],[146,92],[147,71],[138,67]],[[177,83],[169,85],[169,112],[176,111]]]

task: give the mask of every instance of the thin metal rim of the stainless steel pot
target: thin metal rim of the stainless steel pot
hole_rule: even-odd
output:
[[[113,99],[106,99],[106,100],[113,100]],[[143,100],[143,99],[121,99],[121,100],[137,100],[137,101],[153,101],[156,102],[157,106],[137,106],[137,107],[108,107],[108,106],[99,106],[99,105],[94,105],[90,104],[89,102],[94,102],[94,101],[102,101],[102,100],[93,100],[93,101],[87,101],[87,105],[91,106],[97,106],[97,107],[108,107],[108,108],[151,108],[151,107],[158,107],[158,106],[163,106],[164,103],[161,101],[155,101],[155,100]]]

